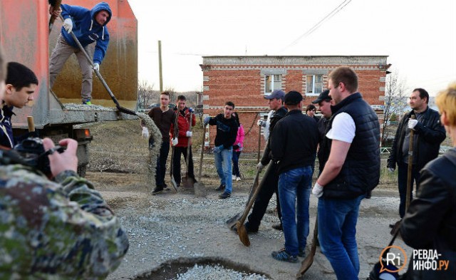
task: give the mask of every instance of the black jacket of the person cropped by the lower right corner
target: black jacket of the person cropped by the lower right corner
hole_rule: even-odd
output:
[[[407,279],[456,279],[456,148],[429,162],[420,175],[417,197],[410,202],[400,226],[405,244],[435,249],[439,260],[450,261],[446,271],[413,270]],[[437,261],[438,262],[438,261]]]

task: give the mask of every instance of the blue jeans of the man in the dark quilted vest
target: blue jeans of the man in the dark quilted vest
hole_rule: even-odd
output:
[[[318,199],[318,241],[337,279],[358,280],[356,222],[363,198]]]

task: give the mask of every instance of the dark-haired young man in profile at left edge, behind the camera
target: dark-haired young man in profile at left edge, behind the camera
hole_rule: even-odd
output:
[[[0,113],[0,145],[12,148],[16,145],[13,137],[13,124],[11,123],[11,116],[14,114],[13,108],[22,108],[33,100],[33,93],[38,86],[38,78],[33,71],[21,63],[10,62],[7,69],[6,87],[2,92],[4,98],[1,98],[3,108],[1,108]]]

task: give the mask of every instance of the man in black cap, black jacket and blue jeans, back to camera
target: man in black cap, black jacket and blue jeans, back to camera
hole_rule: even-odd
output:
[[[298,255],[305,256],[309,235],[309,196],[318,127],[315,120],[302,113],[301,93],[290,91],[284,100],[289,113],[276,124],[270,142],[272,160],[279,168],[285,248],[271,255],[279,261],[297,262]]]

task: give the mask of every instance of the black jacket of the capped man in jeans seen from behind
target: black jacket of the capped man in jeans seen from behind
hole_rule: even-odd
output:
[[[279,174],[314,165],[318,145],[316,121],[301,110],[291,110],[276,124],[271,138],[271,156]]]

